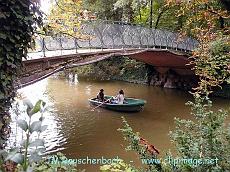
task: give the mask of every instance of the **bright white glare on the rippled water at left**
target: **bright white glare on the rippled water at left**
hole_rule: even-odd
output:
[[[43,137],[45,140],[45,146],[47,148],[46,153],[51,153],[56,148],[57,149],[55,151],[64,149],[62,145],[66,143],[66,137],[62,133],[62,123],[56,116],[57,110],[54,107],[53,99],[49,96],[49,93],[47,93],[47,85],[48,80],[46,79],[34,85],[30,85],[18,90],[18,94],[23,98],[16,98],[16,101],[14,102],[13,108],[11,110],[11,136],[8,140],[8,147],[16,145],[19,146],[23,138],[25,139],[25,132],[23,132],[23,130],[16,125],[16,121],[18,119],[28,121],[28,116],[26,115],[26,106],[23,104],[23,99],[29,99],[33,105],[36,103],[36,101],[42,99],[46,102],[47,106],[49,106],[49,111],[43,114],[45,120],[42,123],[42,125],[48,125],[48,128],[40,135],[40,137]],[[33,115],[32,122],[39,120],[40,116],[40,113]],[[34,132],[31,135],[31,138],[37,138],[37,133]]]

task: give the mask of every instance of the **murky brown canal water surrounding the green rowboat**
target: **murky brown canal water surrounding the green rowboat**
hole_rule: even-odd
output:
[[[144,110],[138,113],[121,113],[102,108],[92,111],[94,107],[89,104],[88,99],[95,97],[101,88],[107,95],[116,95],[123,89],[126,97],[145,99],[147,104]],[[44,114],[44,124],[48,125],[48,129],[42,135],[45,138],[47,154],[62,152],[72,159],[109,159],[118,156],[131,164],[139,162],[135,153],[125,151],[126,142],[117,131],[122,127],[122,116],[134,131],[140,132],[143,138],[164,155],[169,149],[173,150],[168,133],[174,129],[174,117],[192,119],[189,107],[185,106],[188,100],[192,100],[192,96],[187,92],[173,89],[119,81],[96,82],[76,79],[70,82],[52,77],[22,88],[18,92],[32,103],[42,99],[49,106],[49,111]],[[19,105],[20,108],[23,107],[20,101]],[[229,108],[230,101],[215,98],[214,107]],[[39,115],[35,115],[33,118],[38,117]],[[12,134],[8,146],[19,144],[22,138],[22,131],[15,125],[19,118],[23,119],[25,115],[13,115]],[[79,168],[99,171],[99,166],[100,164],[80,165]]]

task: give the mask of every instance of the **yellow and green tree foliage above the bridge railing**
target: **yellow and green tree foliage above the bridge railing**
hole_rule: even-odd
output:
[[[144,0],[56,0],[49,15],[50,26],[57,32],[79,37],[77,28],[82,19],[102,19],[124,21],[149,26],[150,20],[154,28],[176,30],[182,27],[183,17],[172,15],[176,8],[169,8],[165,1],[154,0],[152,13],[150,1]],[[87,14],[87,17],[84,14]]]

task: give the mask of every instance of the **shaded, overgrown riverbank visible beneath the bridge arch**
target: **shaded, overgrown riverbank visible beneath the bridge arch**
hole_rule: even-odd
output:
[[[198,83],[195,75],[179,75],[167,68],[155,68],[128,57],[116,57],[90,65],[77,67],[61,73],[61,76],[76,74],[78,79],[117,80],[136,84],[147,84],[162,88],[192,90]],[[216,89],[214,96],[230,98],[230,86]]]

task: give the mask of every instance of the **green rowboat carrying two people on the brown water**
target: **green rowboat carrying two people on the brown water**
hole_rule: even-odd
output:
[[[105,99],[111,99],[112,96],[105,96]],[[109,110],[119,111],[119,112],[138,112],[143,109],[146,101],[142,99],[134,99],[134,98],[125,98],[124,104],[113,104],[106,102],[100,102],[97,98],[91,98],[89,99],[89,102],[92,105],[95,105],[97,107],[106,108]]]

